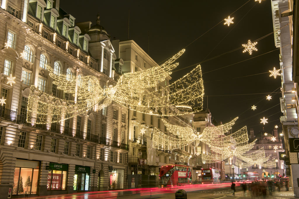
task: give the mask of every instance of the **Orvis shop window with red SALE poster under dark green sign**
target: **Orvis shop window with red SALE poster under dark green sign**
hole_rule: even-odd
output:
[[[48,170],[47,190],[65,190],[68,164],[50,162],[49,165],[46,166],[46,170]]]

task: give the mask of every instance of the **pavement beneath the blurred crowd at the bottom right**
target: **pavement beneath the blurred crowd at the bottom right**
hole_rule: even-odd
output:
[[[224,196],[221,199],[249,199],[249,198],[264,198],[263,195],[260,196],[253,196],[252,195],[252,191],[247,190],[246,192],[244,191],[240,191],[240,192],[235,192],[235,195],[233,196],[232,194],[228,194],[226,196]],[[295,198],[294,197],[294,191],[293,189],[290,187],[289,191],[275,191],[272,192],[271,194],[269,194],[269,191],[267,191],[267,195],[265,198],[273,198],[273,199],[288,199],[288,198]]]

